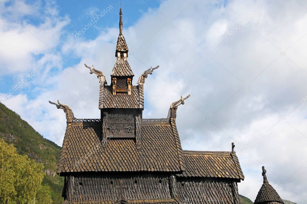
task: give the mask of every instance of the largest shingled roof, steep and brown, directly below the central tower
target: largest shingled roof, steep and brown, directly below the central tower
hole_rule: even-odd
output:
[[[139,136],[139,151],[134,139],[111,139],[103,148],[100,122],[72,123],[67,126],[57,173],[183,170],[179,138],[171,124],[142,124]]]

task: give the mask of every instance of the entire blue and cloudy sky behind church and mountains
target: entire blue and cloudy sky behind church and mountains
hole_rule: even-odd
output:
[[[0,0],[0,102],[62,145],[69,105],[99,118],[99,82],[110,84],[120,1]],[[283,199],[307,203],[307,1],[123,0],[128,61],[145,83],[143,118],[177,111],[185,150],[230,151],[255,200],[261,166]],[[97,17],[98,16],[98,17]],[[88,25],[91,26],[88,26]]]

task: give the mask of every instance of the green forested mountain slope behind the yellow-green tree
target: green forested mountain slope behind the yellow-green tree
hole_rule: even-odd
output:
[[[43,163],[46,172],[43,184],[51,187],[53,202],[62,203],[61,191],[64,179],[55,173],[61,147],[43,138],[18,114],[2,103],[0,103],[0,138],[6,143],[13,144],[19,154],[26,154],[29,158]]]

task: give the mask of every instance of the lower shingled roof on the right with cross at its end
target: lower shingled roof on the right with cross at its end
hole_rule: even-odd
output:
[[[242,179],[238,157],[231,152],[183,151],[185,171],[177,176]]]

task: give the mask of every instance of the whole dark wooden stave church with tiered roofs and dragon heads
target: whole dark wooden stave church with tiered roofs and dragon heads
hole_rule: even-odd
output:
[[[103,73],[85,64],[99,79],[99,119],[78,119],[67,105],[67,128],[57,173],[65,176],[65,204],[239,204],[237,182],[244,175],[231,151],[182,150],[176,112],[187,97],[173,102],[166,118],[142,118],[144,83],[159,66],[134,76],[128,47],[120,33],[111,84]],[[261,197],[261,196],[260,196]]]

